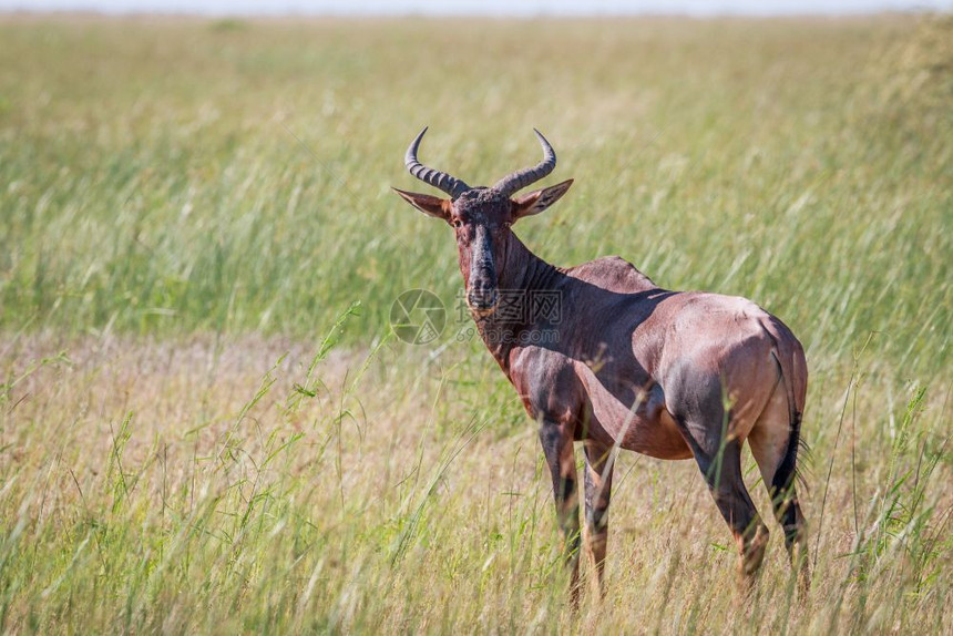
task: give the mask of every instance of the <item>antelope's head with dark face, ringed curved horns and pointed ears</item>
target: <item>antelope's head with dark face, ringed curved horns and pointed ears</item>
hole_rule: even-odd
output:
[[[491,187],[471,187],[445,172],[433,170],[417,160],[420,131],[404,155],[410,174],[437,187],[450,198],[418,194],[393,188],[420,212],[442,218],[457,235],[460,271],[467,286],[467,304],[479,315],[492,314],[499,300],[499,267],[505,261],[506,248],[512,238],[512,225],[524,216],[540,214],[563,196],[573,179],[524,194],[514,195],[542,179],[556,167],[556,153],[550,142],[533,129],[543,146],[543,161],[532,167],[511,173]]]

